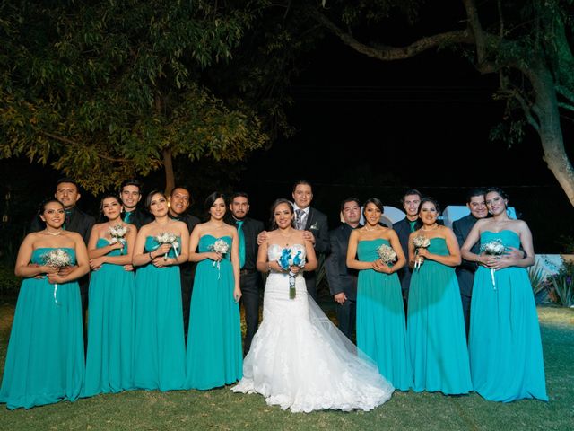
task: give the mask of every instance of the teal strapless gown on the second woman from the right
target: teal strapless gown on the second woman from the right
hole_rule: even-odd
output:
[[[429,251],[446,256],[447,242],[432,238]],[[425,260],[413,271],[407,336],[414,391],[461,394],[473,390],[455,268]]]

